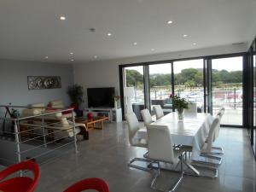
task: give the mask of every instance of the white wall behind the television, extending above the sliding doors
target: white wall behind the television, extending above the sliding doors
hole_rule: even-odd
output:
[[[119,95],[119,65],[147,61],[164,61],[203,55],[222,55],[247,51],[247,44],[227,45],[207,49],[193,49],[158,55],[137,56],[111,61],[91,61],[73,65],[74,82],[84,86],[84,106],[87,107],[86,89],[89,87],[115,87]]]

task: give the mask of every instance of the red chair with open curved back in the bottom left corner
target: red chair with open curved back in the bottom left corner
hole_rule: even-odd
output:
[[[32,171],[34,178],[31,177],[12,177],[7,180],[3,180],[9,177],[11,174],[19,171]],[[39,182],[40,168],[37,163],[32,160],[26,160],[9,166],[0,172],[0,190],[4,192],[33,192]]]

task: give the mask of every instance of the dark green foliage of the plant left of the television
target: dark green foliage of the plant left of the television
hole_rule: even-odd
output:
[[[79,84],[73,84],[67,87],[67,95],[70,97],[71,102],[81,104],[84,102],[84,88]]]

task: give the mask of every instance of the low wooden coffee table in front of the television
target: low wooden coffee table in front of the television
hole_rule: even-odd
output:
[[[83,123],[85,124],[86,128],[89,129],[103,129],[104,128],[104,120],[108,120],[108,117],[95,117],[93,119],[87,119],[87,118],[76,118],[75,121],[77,123]],[[98,126],[96,126],[98,125]]]

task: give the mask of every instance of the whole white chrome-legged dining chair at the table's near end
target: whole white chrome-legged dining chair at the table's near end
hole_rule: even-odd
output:
[[[147,125],[148,130],[148,159],[155,160],[157,162],[157,172],[151,182],[151,188],[160,191],[166,191],[164,189],[156,188],[154,183],[157,177],[160,176],[160,162],[170,163],[172,165],[177,164],[180,160],[180,176],[177,181],[172,185],[172,189],[168,191],[174,191],[177,186],[183,180],[183,153],[179,149],[173,149],[172,137],[168,126],[166,125]]]

